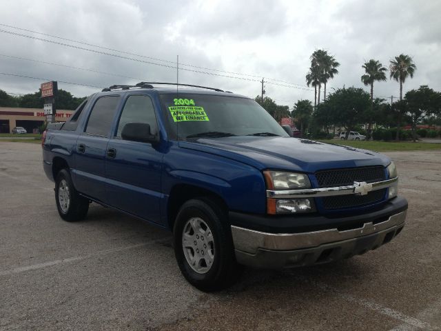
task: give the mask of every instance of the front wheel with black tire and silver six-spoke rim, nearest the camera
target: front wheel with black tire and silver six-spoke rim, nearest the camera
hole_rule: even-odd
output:
[[[226,213],[208,199],[185,202],[174,223],[174,252],[185,279],[204,292],[232,285],[240,274]]]

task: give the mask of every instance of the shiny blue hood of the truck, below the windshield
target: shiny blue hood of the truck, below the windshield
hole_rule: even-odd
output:
[[[263,169],[316,172],[333,168],[383,165],[389,157],[369,150],[291,137],[225,137],[180,141],[181,148],[234,159]]]

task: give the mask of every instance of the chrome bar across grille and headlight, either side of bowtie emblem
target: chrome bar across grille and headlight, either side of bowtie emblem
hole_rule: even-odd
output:
[[[389,188],[398,181],[398,177],[387,179],[386,181],[377,181],[376,183],[369,183],[370,191],[381,190],[382,188]],[[336,195],[359,194],[356,192],[358,185],[336,186],[334,188],[307,188],[305,190],[267,190],[267,198],[320,198],[333,197]]]

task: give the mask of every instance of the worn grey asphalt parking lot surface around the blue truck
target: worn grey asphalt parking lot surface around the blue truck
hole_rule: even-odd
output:
[[[441,330],[441,152],[387,154],[409,200],[391,243],[205,294],[170,233],[96,204],[62,221],[41,146],[0,141],[0,330]]]

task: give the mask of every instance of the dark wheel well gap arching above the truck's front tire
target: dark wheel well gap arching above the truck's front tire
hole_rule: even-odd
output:
[[[183,205],[185,201],[189,201],[197,197],[207,198],[216,203],[216,205],[223,210],[228,210],[227,203],[225,203],[219,194],[194,185],[175,185],[170,192],[170,197],[168,198],[167,202],[167,221],[170,230],[173,230],[174,220],[176,219],[176,215],[178,214],[181,205]]]

